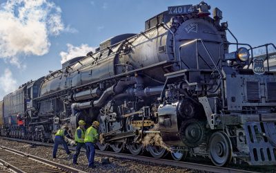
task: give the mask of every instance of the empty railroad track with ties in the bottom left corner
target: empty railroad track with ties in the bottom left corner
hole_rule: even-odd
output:
[[[0,146],[0,163],[2,164],[3,172],[83,173],[73,167],[61,165],[4,146]],[[0,171],[2,172],[1,168]]]

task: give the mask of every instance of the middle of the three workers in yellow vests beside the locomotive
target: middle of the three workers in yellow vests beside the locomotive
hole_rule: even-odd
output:
[[[84,134],[85,134],[85,127],[86,122],[84,120],[79,120],[79,127],[77,127],[76,132],[75,132],[75,142],[77,143],[76,146],[76,153],[73,156],[73,164],[75,165],[79,165],[77,163],[77,157],[79,156],[79,153],[81,152],[81,147],[83,147],[84,149],[86,149],[86,143],[84,143]],[[88,151],[86,149],[86,156],[87,159],[89,159],[88,157]]]

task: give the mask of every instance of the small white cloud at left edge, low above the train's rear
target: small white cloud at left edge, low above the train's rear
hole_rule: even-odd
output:
[[[0,76],[0,98],[17,89],[17,80],[12,77],[10,69],[5,69],[3,75]]]

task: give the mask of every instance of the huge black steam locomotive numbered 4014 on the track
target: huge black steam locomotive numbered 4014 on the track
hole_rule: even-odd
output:
[[[65,123],[74,133],[79,120],[99,120],[101,150],[275,165],[276,73],[267,50],[276,47],[228,42],[227,31],[235,36],[221,10],[209,10],[203,1],[170,6],[143,32],[107,39],[23,84],[0,102],[1,135],[50,141]],[[254,56],[261,47],[266,54]]]

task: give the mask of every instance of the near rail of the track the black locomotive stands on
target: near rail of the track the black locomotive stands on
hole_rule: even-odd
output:
[[[38,141],[32,141],[32,140],[23,140],[23,139],[18,139],[18,138],[8,138],[8,137],[2,137],[0,138],[3,139],[8,139],[8,140],[15,140],[18,142],[23,142],[23,143],[30,143],[34,145],[42,145],[42,146],[48,146],[52,147],[53,144],[51,143],[41,143]],[[75,147],[69,147],[70,150],[75,150]],[[253,173],[253,171],[248,171],[248,170],[238,170],[234,168],[229,168],[229,167],[216,167],[213,165],[204,165],[204,164],[199,164],[199,163],[189,163],[189,162],[184,162],[184,161],[171,161],[168,159],[163,159],[163,158],[151,158],[148,156],[134,156],[132,154],[124,154],[124,153],[115,153],[115,152],[108,152],[108,151],[100,151],[96,150],[97,154],[102,154],[106,156],[115,156],[118,158],[128,158],[136,161],[144,161],[148,163],[156,163],[156,164],[161,164],[161,165],[168,165],[168,166],[175,166],[175,167],[183,167],[183,168],[189,168],[193,170],[201,170],[201,171],[207,171],[207,172],[228,172],[228,173],[236,173],[236,172],[246,172],[246,173]]]

